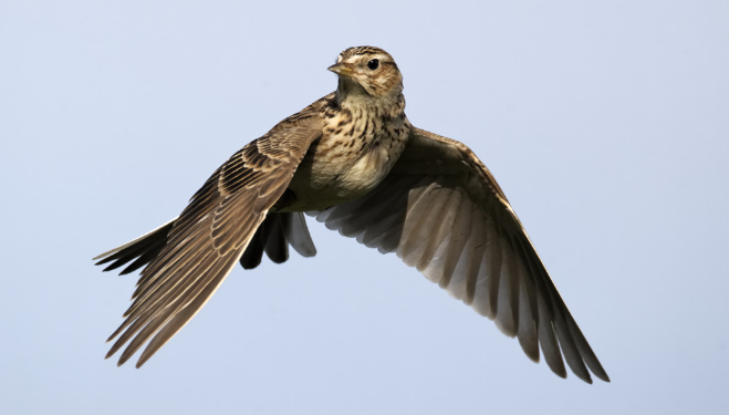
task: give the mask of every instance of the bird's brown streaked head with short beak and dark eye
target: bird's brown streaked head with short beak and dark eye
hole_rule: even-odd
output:
[[[403,93],[403,75],[395,60],[379,48],[350,48],[329,70],[340,76],[340,95],[397,98]]]

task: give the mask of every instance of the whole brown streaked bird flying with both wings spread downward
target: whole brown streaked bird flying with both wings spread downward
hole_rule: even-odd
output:
[[[465,144],[410,124],[403,75],[375,46],[327,68],[336,91],[250,142],[181,214],[94,258],[104,271],[142,268],[106,357],[136,367],[165,345],[237,263],[253,269],[289,247],[312,257],[305,216],[379,252],[395,252],[451,297],[517,338],[566,377],[610,382],[491,172]],[[144,268],[143,268],[144,267]],[[128,344],[127,344],[128,343]],[[564,359],[564,360],[563,360]]]

